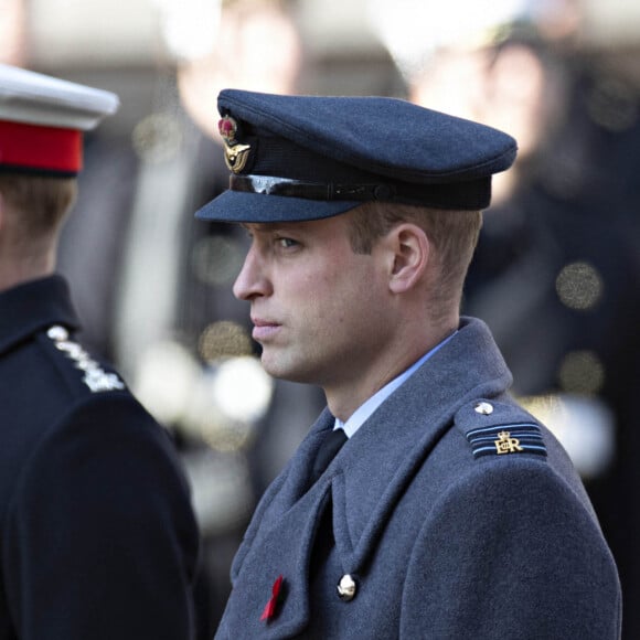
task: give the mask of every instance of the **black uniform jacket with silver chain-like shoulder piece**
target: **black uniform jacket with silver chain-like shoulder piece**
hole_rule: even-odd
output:
[[[0,294],[0,639],[186,640],[188,487],[76,328],[57,276]]]

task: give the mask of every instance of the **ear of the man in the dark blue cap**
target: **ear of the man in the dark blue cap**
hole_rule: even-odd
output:
[[[393,227],[386,239],[393,250],[390,288],[394,294],[402,294],[423,279],[431,246],[425,231],[412,223]]]

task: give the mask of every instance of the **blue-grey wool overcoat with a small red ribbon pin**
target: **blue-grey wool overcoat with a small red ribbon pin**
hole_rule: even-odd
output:
[[[618,638],[596,515],[510,382],[463,319],[307,490],[326,410],[257,508],[216,638]]]

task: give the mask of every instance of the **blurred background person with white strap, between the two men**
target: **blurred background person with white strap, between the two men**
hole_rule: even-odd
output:
[[[321,394],[264,373],[231,292],[246,235],[193,220],[228,171],[212,120],[228,85],[295,93],[305,52],[291,3],[159,3],[173,64],[134,130],[140,162],[116,280],[116,360],[142,404],[175,434],[203,535],[211,637],[256,497],[321,407]],[[158,260],[162,255],[162,260]],[[149,275],[153,274],[150,278]]]

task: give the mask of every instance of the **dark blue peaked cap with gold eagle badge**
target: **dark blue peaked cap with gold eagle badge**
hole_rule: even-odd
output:
[[[375,200],[479,211],[516,153],[502,131],[395,98],[225,89],[218,110],[232,173],[203,220],[318,220]]]

